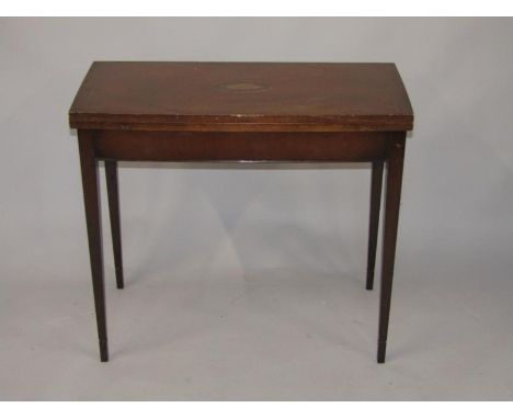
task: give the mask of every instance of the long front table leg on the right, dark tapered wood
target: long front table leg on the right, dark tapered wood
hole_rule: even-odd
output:
[[[379,302],[379,331],[377,362],[384,363],[387,350],[388,319],[396,257],[397,227],[401,200],[402,162],[404,158],[404,134],[390,140],[387,160],[385,191],[385,226],[383,238],[381,293]]]

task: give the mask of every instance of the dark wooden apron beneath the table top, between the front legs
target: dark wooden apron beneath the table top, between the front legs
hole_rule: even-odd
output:
[[[390,132],[200,133],[89,131],[98,159],[126,161],[375,161]]]

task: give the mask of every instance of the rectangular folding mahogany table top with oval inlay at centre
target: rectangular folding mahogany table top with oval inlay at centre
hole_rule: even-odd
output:
[[[72,128],[409,131],[394,64],[95,61]]]

